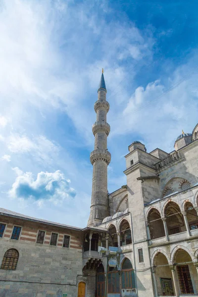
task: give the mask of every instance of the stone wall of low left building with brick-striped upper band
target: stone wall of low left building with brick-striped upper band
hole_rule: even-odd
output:
[[[19,252],[16,270],[0,269],[0,297],[56,297],[59,289],[67,297],[77,296],[78,282],[85,280],[80,231],[4,216],[0,222],[6,223],[0,264],[9,248]],[[10,239],[13,225],[22,226],[19,240]],[[46,231],[44,244],[36,244],[38,230]],[[49,245],[51,232],[58,233],[57,246]],[[71,236],[68,248],[62,247],[64,234]]]

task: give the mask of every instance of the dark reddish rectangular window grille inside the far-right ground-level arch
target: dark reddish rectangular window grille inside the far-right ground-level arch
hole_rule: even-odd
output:
[[[194,294],[188,265],[177,266],[181,294]]]

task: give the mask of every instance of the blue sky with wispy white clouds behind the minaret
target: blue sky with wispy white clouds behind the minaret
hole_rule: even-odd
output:
[[[86,226],[104,68],[108,191],[135,140],[172,151],[198,122],[198,3],[0,0],[0,207]]]

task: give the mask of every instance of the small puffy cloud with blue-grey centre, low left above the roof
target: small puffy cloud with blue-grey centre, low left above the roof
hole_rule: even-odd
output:
[[[23,173],[19,168],[13,170],[17,173],[17,177],[8,192],[11,198],[21,199],[24,202],[33,199],[42,206],[45,200],[57,204],[76,196],[76,191],[70,187],[70,180],[59,170],[40,172],[36,179],[32,172]]]

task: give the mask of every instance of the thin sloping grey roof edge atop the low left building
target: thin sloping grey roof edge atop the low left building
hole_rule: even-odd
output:
[[[0,215],[17,217],[17,218],[24,219],[24,220],[34,221],[34,222],[38,222],[38,223],[45,223],[45,224],[49,224],[49,225],[53,225],[53,226],[57,226],[57,227],[63,227],[63,228],[68,228],[68,229],[73,229],[73,230],[78,230],[78,231],[82,230],[82,228],[73,227],[73,226],[60,224],[60,223],[56,223],[56,222],[51,222],[51,221],[47,221],[47,220],[43,220],[43,219],[37,219],[37,218],[31,217],[28,215],[24,215],[24,214],[21,214],[21,213],[12,211],[12,210],[8,210],[5,208],[0,208]]]

